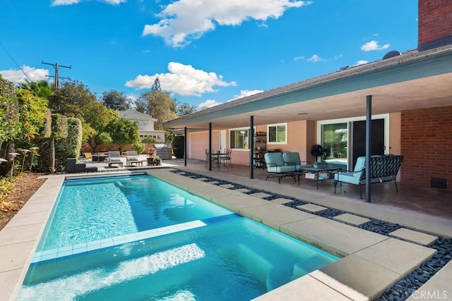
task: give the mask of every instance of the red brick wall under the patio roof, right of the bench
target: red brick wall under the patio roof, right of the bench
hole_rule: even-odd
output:
[[[446,178],[452,190],[452,106],[401,113],[400,181],[430,187],[430,178]]]

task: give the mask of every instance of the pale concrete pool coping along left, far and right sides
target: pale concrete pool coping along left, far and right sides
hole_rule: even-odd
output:
[[[313,290],[300,292],[299,289],[300,285],[307,283],[310,288],[316,288],[315,297],[319,300],[326,300],[331,295],[344,300],[371,300],[436,252],[429,247],[371,233],[339,221],[294,210],[280,202],[268,202],[261,197],[187,178],[171,171],[174,169],[155,168],[137,172],[165,180],[237,214],[343,257],[335,264],[287,283],[256,300],[299,300],[303,296],[309,297]],[[131,173],[135,172],[102,172],[101,176]],[[99,176],[99,173],[48,176],[40,190],[0,231],[0,257],[5,259],[0,263],[0,290],[6,300],[16,300],[64,179],[86,176]],[[446,266],[444,271],[451,271],[451,262]],[[441,283],[444,278],[436,279],[436,282]]]

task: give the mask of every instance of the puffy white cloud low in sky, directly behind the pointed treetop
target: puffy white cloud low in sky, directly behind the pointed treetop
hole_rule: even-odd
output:
[[[191,65],[182,63],[168,63],[169,73],[155,75],[138,75],[135,80],[126,82],[126,87],[136,90],[149,89],[156,78],[160,81],[162,90],[179,94],[181,96],[201,96],[206,92],[215,92],[214,86],[235,86],[235,82],[225,82],[222,75],[213,72],[198,70]]]

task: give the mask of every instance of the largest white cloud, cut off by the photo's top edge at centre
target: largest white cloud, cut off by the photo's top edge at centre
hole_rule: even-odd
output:
[[[240,25],[246,20],[278,19],[292,7],[311,4],[299,0],[179,0],[157,14],[159,23],[145,25],[143,36],[156,35],[172,47],[184,47],[216,25]]]

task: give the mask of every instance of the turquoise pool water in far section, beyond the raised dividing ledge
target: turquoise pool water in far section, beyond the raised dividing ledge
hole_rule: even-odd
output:
[[[230,213],[147,175],[69,180],[37,251]]]

